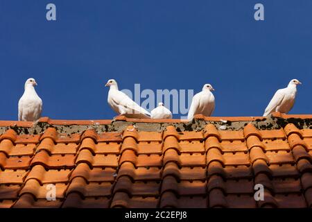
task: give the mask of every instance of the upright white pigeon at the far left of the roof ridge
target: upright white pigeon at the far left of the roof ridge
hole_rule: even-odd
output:
[[[25,91],[19,99],[19,121],[37,121],[41,117],[42,100],[35,91],[36,80],[28,78]]]

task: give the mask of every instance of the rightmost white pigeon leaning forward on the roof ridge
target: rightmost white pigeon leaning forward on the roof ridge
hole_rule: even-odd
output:
[[[293,108],[297,94],[297,85],[302,84],[297,79],[292,79],[284,89],[278,89],[268,104],[263,117],[268,116],[271,112],[288,113]]]

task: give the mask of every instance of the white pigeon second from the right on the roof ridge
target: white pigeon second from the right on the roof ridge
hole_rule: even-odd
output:
[[[187,119],[191,121],[196,114],[203,114],[206,117],[210,117],[215,108],[214,88],[210,84],[205,84],[202,87],[202,92],[198,92],[193,96],[191,107],[189,108],[189,114]]]

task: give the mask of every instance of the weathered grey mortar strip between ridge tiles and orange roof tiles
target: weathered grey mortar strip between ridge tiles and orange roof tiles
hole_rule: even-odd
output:
[[[94,122],[92,125],[50,125],[49,123],[35,123],[33,127],[0,127],[0,133],[4,133],[8,128],[14,129],[20,135],[40,134],[46,128],[54,127],[58,133],[82,133],[87,129],[94,129],[97,133],[103,132],[121,132],[126,126],[134,125],[139,131],[162,131],[167,126],[173,125],[177,131],[200,131],[205,128],[207,123],[213,123],[219,130],[241,130],[248,123],[254,124],[260,130],[270,130],[284,128],[287,123],[293,123],[297,128],[312,128],[312,119],[282,119],[279,117],[267,117],[263,119],[255,119],[254,121],[205,121],[204,119],[194,119],[192,122],[177,122],[177,123],[137,123],[131,121],[112,121],[110,124],[99,124]]]

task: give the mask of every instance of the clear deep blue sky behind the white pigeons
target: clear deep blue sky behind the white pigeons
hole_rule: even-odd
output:
[[[254,20],[255,3],[265,21]],[[109,78],[120,89],[199,92],[211,83],[214,116],[261,115],[298,78],[291,113],[311,114],[311,10],[311,0],[1,0],[0,119],[17,119],[29,77],[52,119],[112,119]]]

